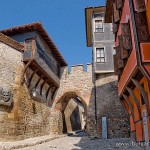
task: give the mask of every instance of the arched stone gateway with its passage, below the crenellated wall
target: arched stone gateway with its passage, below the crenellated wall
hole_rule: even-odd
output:
[[[78,99],[78,102],[76,102],[76,99]],[[52,109],[59,114],[58,122],[55,120],[55,128],[58,128],[59,134],[83,129],[85,124],[83,118],[86,118],[87,104],[79,91],[68,91],[62,94],[55,100]],[[75,119],[72,119],[73,117]],[[76,120],[76,123],[73,123],[73,120]]]

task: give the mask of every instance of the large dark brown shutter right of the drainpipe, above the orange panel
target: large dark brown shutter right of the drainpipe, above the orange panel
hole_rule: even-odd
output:
[[[135,20],[139,42],[150,41],[146,13],[135,13]]]

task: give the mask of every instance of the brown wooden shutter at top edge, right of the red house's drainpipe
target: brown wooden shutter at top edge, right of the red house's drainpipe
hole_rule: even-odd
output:
[[[134,10],[137,12],[143,12],[146,10],[145,0],[133,0]]]

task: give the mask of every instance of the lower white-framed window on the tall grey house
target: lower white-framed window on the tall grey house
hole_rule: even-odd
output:
[[[96,48],[96,62],[98,62],[98,63],[105,62],[104,48]]]

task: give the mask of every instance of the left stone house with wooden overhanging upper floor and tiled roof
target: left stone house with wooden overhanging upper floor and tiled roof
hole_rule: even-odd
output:
[[[0,139],[47,134],[59,70],[67,64],[40,23],[1,32]]]

